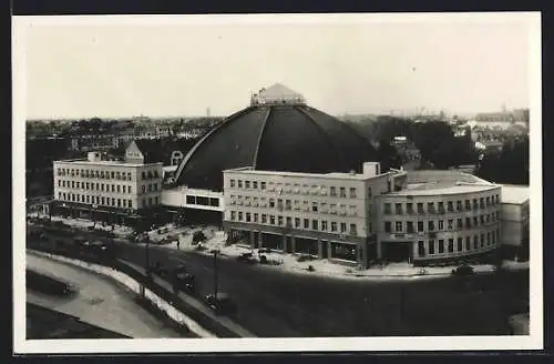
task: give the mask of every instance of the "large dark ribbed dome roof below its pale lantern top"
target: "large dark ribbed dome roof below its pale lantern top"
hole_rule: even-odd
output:
[[[188,152],[177,184],[222,190],[223,170],[306,173],[361,172],[376,160],[368,140],[348,124],[305,104],[263,104],[228,117]]]

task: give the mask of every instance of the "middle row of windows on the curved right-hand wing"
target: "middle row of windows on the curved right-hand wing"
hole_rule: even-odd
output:
[[[425,223],[423,221],[396,221],[394,222],[394,232],[397,233],[413,233],[416,232],[416,228],[418,232],[432,232],[432,231],[445,231],[445,230],[461,230],[461,229],[471,229],[471,228],[479,228],[483,226],[493,222],[500,221],[500,211],[496,211],[495,213],[490,213],[490,214],[484,214],[480,216],[473,216],[471,218],[465,218],[461,219],[458,218],[455,221],[454,219],[448,219],[448,220],[430,220]],[[444,224],[447,222],[447,224]],[[455,223],[455,224],[454,224]],[[391,233],[392,232],[392,222],[390,221],[384,221],[384,232],[386,233]],[[425,230],[427,228],[427,230]]]

